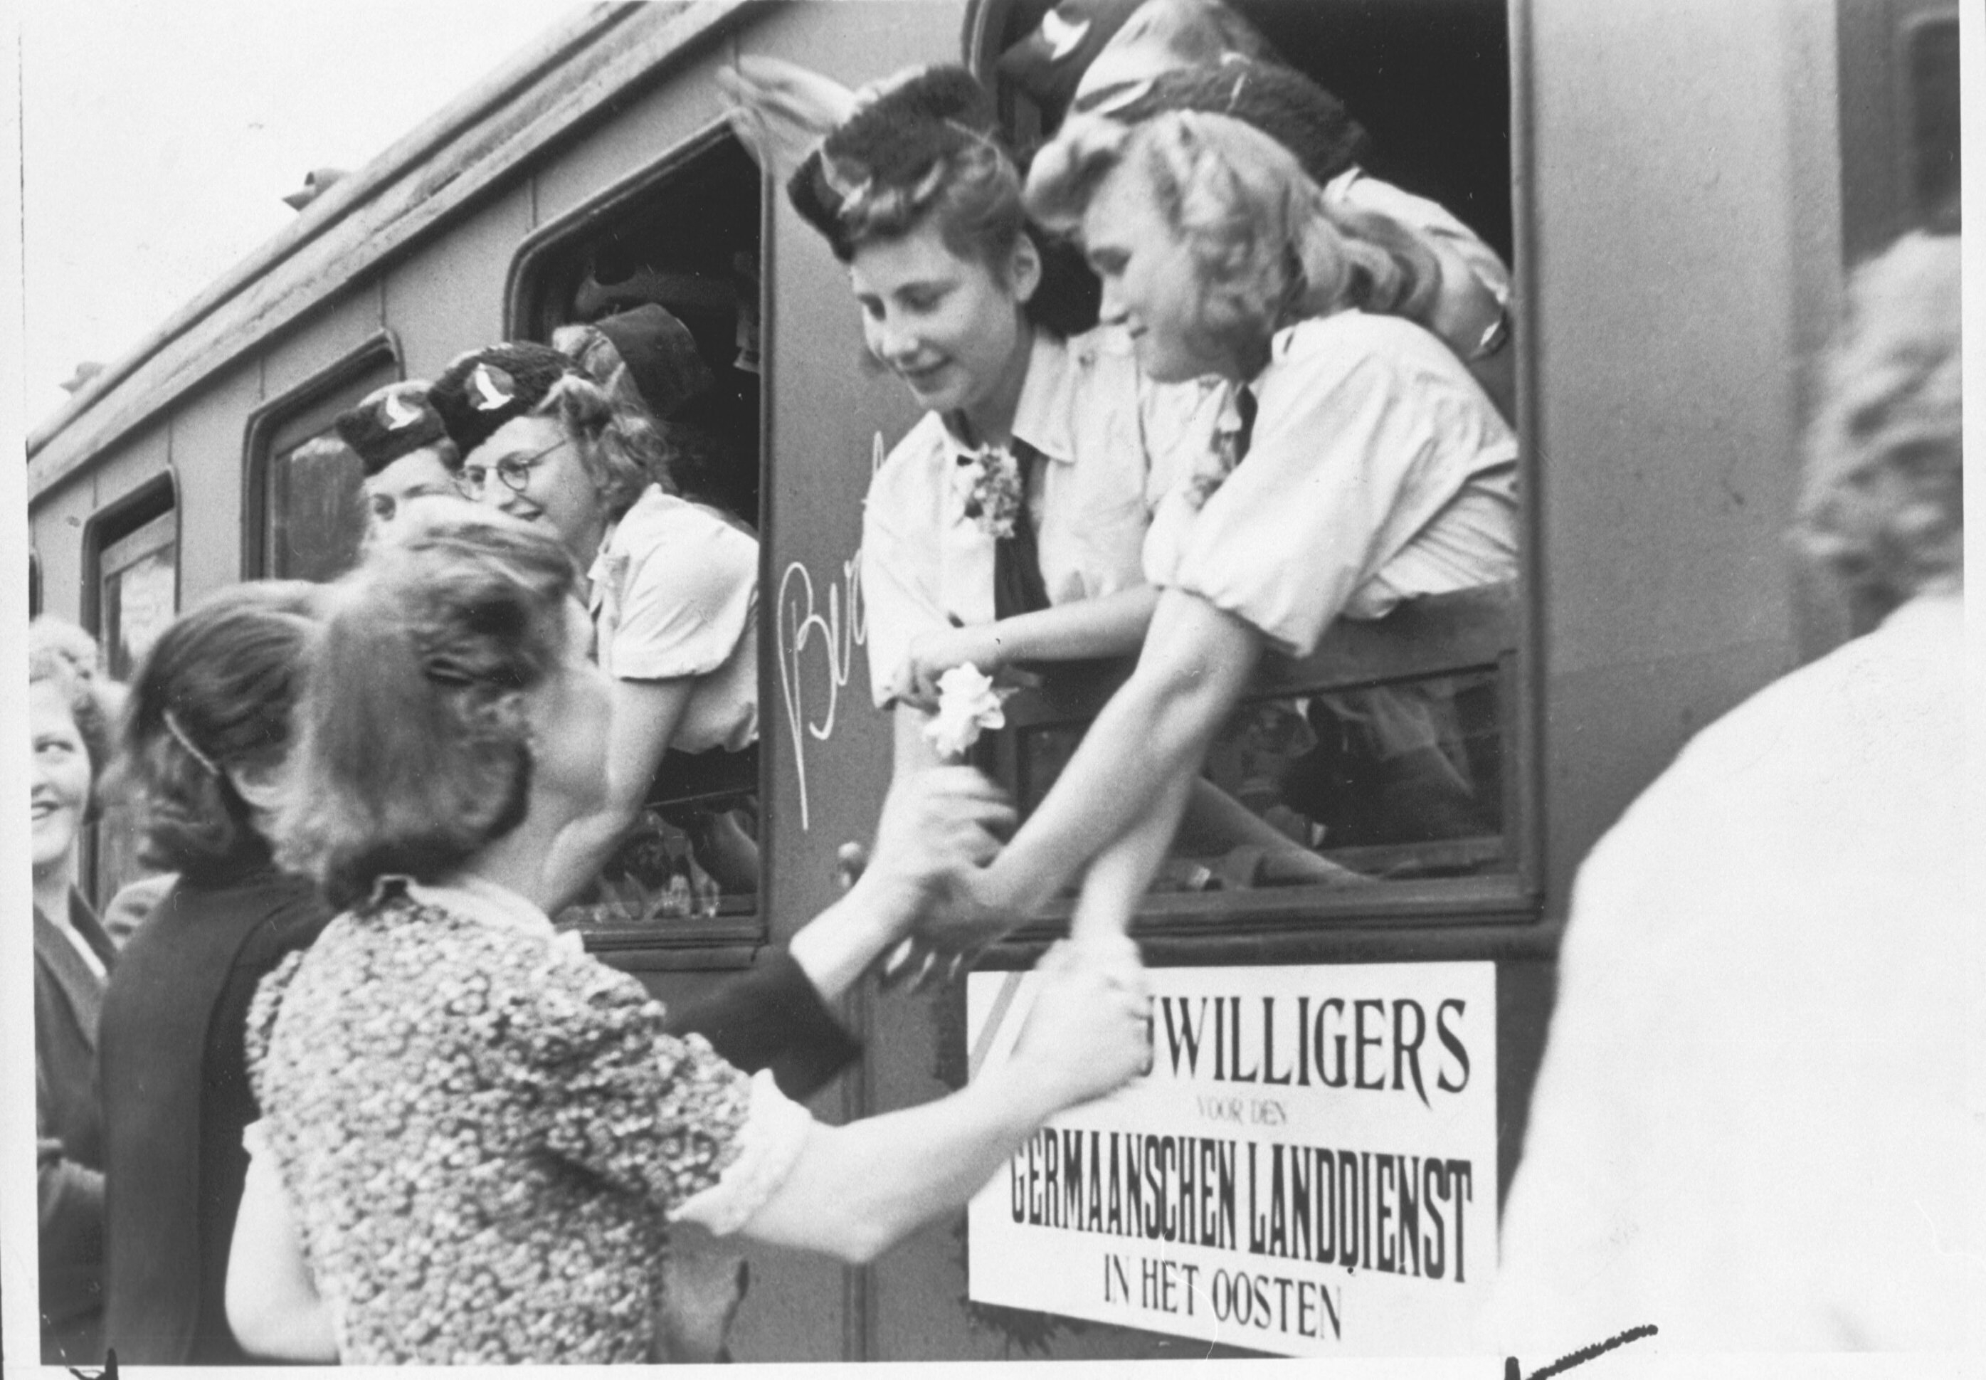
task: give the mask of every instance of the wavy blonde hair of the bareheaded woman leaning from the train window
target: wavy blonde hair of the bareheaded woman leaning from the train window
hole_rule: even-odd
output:
[[[1076,232],[1116,169],[1136,169],[1200,278],[1200,330],[1243,363],[1311,316],[1356,308],[1426,322],[1440,266],[1410,226],[1325,201],[1297,157],[1227,115],[1166,111],[1136,125],[1076,115],[1035,157],[1027,208]]]

